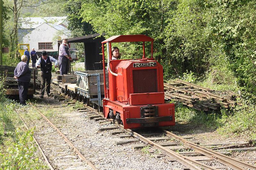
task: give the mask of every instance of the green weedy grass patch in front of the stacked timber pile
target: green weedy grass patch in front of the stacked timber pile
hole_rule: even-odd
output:
[[[242,102],[243,106],[220,111],[204,112],[175,103],[175,120],[204,130],[217,130],[224,136],[244,136],[247,140],[256,139],[256,106]]]

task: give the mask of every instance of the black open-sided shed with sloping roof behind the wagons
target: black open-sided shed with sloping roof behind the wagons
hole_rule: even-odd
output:
[[[100,36],[101,35],[101,36]],[[68,39],[68,43],[71,42],[83,42],[84,43],[84,68],[85,70],[103,70],[103,64],[99,63],[102,61],[102,48],[101,41],[105,38],[103,34],[91,34],[81,37],[75,37]],[[97,37],[97,38],[96,38]],[[58,41],[58,49],[62,41]],[[58,50],[59,51],[59,50]],[[58,52],[59,53],[59,52]]]

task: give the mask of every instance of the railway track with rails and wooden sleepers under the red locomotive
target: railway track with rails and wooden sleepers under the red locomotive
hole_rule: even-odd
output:
[[[55,88],[52,87],[54,91],[57,92],[56,95],[61,95],[62,99],[64,98],[70,98],[68,95],[65,95],[64,93],[56,90]],[[60,97],[61,98],[61,97]],[[84,103],[83,103],[84,104]],[[98,110],[89,107],[84,104],[84,109],[91,111],[90,116],[92,118],[97,119],[98,117],[103,117],[102,113],[98,112]],[[94,117],[93,117],[94,115]],[[96,116],[95,116],[96,115]],[[98,115],[98,116],[97,116]],[[220,152],[213,151],[211,149],[207,149],[204,146],[198,145],[196,143],[193,143],[191,141],[186,140],[183,137],[177,136],[173,134],[172,132],[169,132],[165,129],[160,129],[162,133],[159,133],[158,135],[165,135],[165,139],[174,139],[177,141],[179,144],[173,142],[173,145],[183,145],[183,147],[187,148],[189,151],[188,152],[175,152],[175,149],[170,149],[170,142],[167,142],[166,144],[164,143],[158,143],[154,141],[154,138],[149,138],[149,137],[144,137],[143,135],[131,130],[131,129],[124,129],[122,125],[118,124],[115,120],[113,119],[108,119],[112,124],[114,124],[116,127],[122,129],[123,132],[126,132],[129,135],[126,135],[126,137],[134,137],[145,144],[151,145],[151,147],[156,148],[158,151],[162,152],[169,158],[171,158],[174,161],[178,161],[181,163],[184,168],[186,169],[211,169],[211,170],[216,170],[216,169],[239,169],[239,170],[244,170],[244,169],[256,169],[256,166],[245,163],[243,161],[240,161],[238,159],[234,159],[232,157],[228,157],[224,154],[221,154]],[[113,126],[109,126],[107,128],[102,128],[102,129],[116,129]],[[120,132],[119,132],[120,133]],[[168,138],[170,137],[170,138]],[[162,138],[164,139],[164,138]],[[134,140],[132,140],[134,141]],[[176,150],[177,151],[177,150]],[[194,157],[197,155],[197,157]],[[198,156],[199,155],[199,156]],[[198,158],[198,157],[201,157]],[[196,158],[196,159],[195,159]],[[214,162],[214,163],[209,163],[209,162]],[[213,165],[213,166],[212,166]]]

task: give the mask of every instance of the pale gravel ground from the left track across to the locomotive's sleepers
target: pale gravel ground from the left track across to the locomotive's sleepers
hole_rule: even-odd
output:
[[[115,145],[120,139],[118,135],[110,135],[110,131],[99,132],[98,122],[88,119],[86,112],[74,111],[73,107],[63,102],[57,102],[51,97],[40,99],[35,95],[36,107],[46,115],[60,131],[76,146],[76,148],[99,169],[175,169],[183,167],[178,162],[170,162],[167,158],[154,158],[152,154],[145,154],[141,150],[132,150],[131,144]],[[34,108],[28,106],[27,115]],[[24,115],[26,118],[26,115]],[[26,119],[31,121],[31,118]],[[68,144],[53,129],[45,125],[43,118],[37,114],[36,120],[30,127],[36,126],[35,137],[41,145],[50,163],[56,169],[87,169],[76,153],[71,151]],[[106,124],[103,126],[112,126]],[[122,135],[122,134],[121,134]],[[135,143],[134,143],[135,144]],[[81,165],[80,165],[81,163]],[[89,168],[90,169],[90,168]]]

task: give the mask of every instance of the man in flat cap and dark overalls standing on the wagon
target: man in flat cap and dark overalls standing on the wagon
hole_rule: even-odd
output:
[[[70,56],[71,54],[68,48],[68,38],[65,37],[62,39],[62,44],[60,44],[59,48],[58,61],[60,64],[60,75],[68,74],[69,61],[72,61]]]

